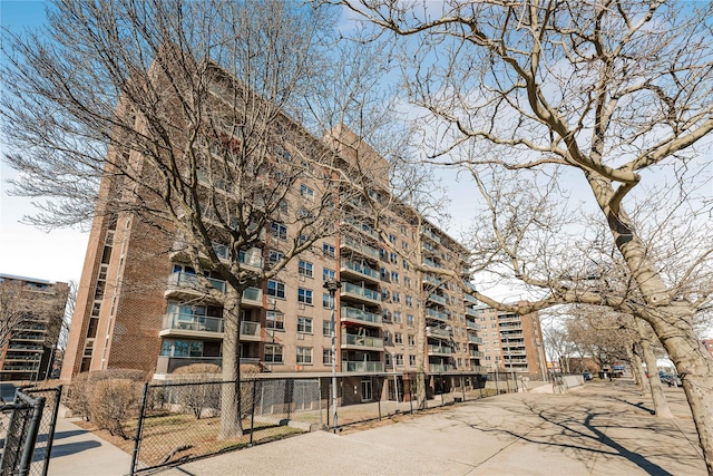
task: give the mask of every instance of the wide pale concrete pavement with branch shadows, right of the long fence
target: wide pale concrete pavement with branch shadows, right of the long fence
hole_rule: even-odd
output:
[[[504,395],[346,436],[312,433],[160,475],[704,476],[683,390],[666,391],[674,420],[653,417],[628,380],[588,382],[568,395]]]

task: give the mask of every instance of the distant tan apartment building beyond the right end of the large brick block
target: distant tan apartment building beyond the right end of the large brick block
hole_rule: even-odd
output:
[[[543,375],[547,360],[537,312],[517,314],[488,307],[476,308],[482,338],[482,365],[497,370]]]

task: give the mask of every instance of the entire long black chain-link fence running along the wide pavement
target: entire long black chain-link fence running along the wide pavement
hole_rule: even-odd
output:
[[[429,373],[422,378],[426,400],[420,405],[416,372],[338,376],[338,426],[330,408],[330,376],[261,375],[240,383],[219,380],[146,383],[136,425],[127,427],[136,431],[130,473],[315,429],[341,431],[397,415],[522,391],[534,383],[528,377],[506,372],[497,376]],[[225,391],[235,397],[233,405],[223,407]]]

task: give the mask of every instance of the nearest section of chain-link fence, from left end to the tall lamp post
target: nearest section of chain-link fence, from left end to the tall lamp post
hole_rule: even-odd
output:
[[[320,379],[147,383],[131,474],[321,428],[322,404]]]

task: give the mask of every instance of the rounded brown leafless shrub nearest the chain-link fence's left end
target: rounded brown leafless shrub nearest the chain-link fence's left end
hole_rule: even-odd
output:
[[[97,381],[90,402],[94,424],[110,435],[129,439],[124,430],[124,422],[136,415],[140,394],[140,385],[130,379]]]

